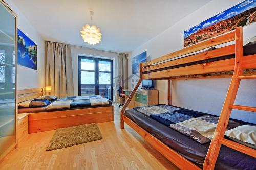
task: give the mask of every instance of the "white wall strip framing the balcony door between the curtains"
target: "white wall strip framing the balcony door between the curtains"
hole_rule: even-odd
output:
[[[117,76],[117,63],[118,63],[118,53],[95,50],[92,48],[83,48],[72,46],[71,56],[72,56],[72,67],[73,67],[73,81],[74,81],[74,95],[78,95],[78,55],[96,58],[105,58],[113,60],[113,77]],[[113,81],[113,88],[115,89],[116,79]],[[114,94],[114,90],[113,90]]]

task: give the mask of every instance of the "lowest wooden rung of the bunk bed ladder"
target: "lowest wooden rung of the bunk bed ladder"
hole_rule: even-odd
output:
[[[246,147],[243,144],[239,144],[239,143],[236,143],[231,140],[224,139],[224,138],[220,139],[219,142],[221,144],[225,145],[226,147],[232,148],[234,150],[237,150],[239,152],[242,152],[244,154],[247,154],[247,155],[250,155],[250,156],[256,158],[256,150]]]

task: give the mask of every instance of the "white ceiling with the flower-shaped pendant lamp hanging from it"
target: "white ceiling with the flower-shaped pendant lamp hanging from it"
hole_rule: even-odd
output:
[[[44,40],[113,52],[131,52],[210,0],[13,0]],[[91,23],[102,41],[84,43],[80,30]]]

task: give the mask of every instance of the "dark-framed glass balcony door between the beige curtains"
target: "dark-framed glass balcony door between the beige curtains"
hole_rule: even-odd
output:
[[[78,95],[113,100],[113,60],[78,56]]]

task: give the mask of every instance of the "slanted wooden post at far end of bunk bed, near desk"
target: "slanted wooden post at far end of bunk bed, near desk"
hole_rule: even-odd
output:
[[[131,92],[131,94],[129,95],[128,99],[125,101],[122,110],[121,110],[121,116],[120,116],[120,128],[124,129],[124,111],[126,110],[127,106],[129,105],[129,103],[131,102],[131,100],[133,99],[133,96],[135,94],[135,92],[137,91],[138,87],[140,86],[140,83],[142,82],[142,63],[140,63],[140,79],[137,82],[136,86],[134,87],[133,91]]]

